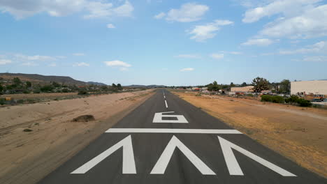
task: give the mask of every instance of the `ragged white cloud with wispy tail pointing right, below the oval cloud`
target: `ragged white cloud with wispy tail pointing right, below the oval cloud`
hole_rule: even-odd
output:
[[[187,31],[191,36],[191,40],[196,40],[198,42],[203,42],[209,38],[214,38],[216,36],[216,31],[220,29],[220,26],[226,26],[233,24],[230,20],[215,20],[204,25],[195,26],[193,30]]]

